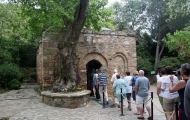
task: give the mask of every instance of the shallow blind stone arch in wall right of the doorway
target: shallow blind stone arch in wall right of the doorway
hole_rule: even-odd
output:
[[[110,58],[111,69],[118,69],[121,74],[128,70],[128,59],[121,53],[117,52]]]

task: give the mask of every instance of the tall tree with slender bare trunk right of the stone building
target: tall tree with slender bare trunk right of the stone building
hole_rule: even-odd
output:
[[[152,39],[157,42],[154,70],[157,72],[158,63],[162,57],[165,44],[162,39],[167,33],[173,34],[176,30],[181,30],[189,22],[189,15],[178,13],[175,18],[170,18],[168,10],[169,0],[152,0],[148,8],[148,19],[150,21],[150,33]],[[178,4],[178,2],[176,2]],[[175,8],[173,8],[175,9]]]

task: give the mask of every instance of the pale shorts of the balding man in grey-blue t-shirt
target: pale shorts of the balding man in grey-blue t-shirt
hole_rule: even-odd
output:
[[[150,101],[148,101],[148,96],[147,97],[140,97],[136,95],[136,106],[137,108],[143,108],[143,103],[145,107],[150,106]]]

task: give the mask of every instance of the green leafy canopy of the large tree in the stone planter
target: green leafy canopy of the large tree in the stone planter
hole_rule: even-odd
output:
[[[74,13],[79,0],[11,0],[22,7],[22,12],[28,18],[29,26],[36,35],[46,32],[60,32],[67,21],[74,20]],[[86,13],[85,27],[100,30],[101,27],[111,27],[113,10],[104,8],[108,0],[90,0]]]

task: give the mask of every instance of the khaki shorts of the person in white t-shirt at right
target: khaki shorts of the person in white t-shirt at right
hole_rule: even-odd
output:
[[[172,112],[175,110],[175,102],[179,101],[179,98],[167,99],[163,98],[163,109],[167,112]]]

